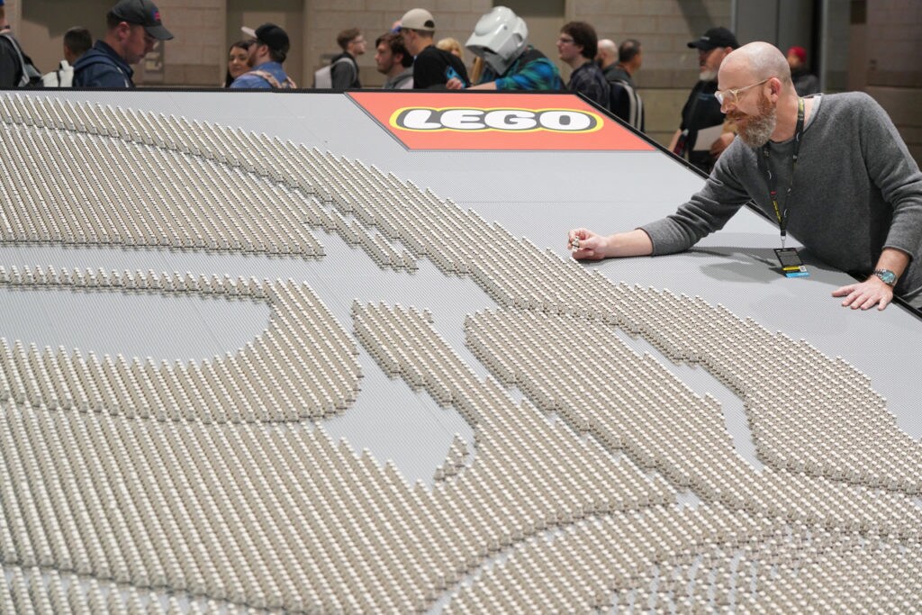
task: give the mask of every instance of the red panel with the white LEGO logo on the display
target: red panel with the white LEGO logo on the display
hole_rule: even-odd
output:
[[[349,92],[408,149],[652,150],[572,94]]]

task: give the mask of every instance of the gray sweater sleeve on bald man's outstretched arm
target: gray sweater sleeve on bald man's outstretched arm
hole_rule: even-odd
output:
[[[640,227],[653,242],[653,254],[674,254],[714,231],[719,231],[750,196],[733,172],[745,168],[745,146],[735,139],[717,160],[704,187],[681,205],[676,213]],[[738,167],[737,165],[743,165]]]

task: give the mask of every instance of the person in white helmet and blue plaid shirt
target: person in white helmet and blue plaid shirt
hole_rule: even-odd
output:
[[[471,89],[563,88],[557,66],[528,43],[525,20],[515,15],[511,8],[494,6],[479,18],[466,46],[484,64],[478,84]],[[461,89],[461,82],[449,79],[446,87]]]

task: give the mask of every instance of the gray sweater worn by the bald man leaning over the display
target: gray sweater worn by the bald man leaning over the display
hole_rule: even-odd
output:
[[[922,173],[887,113],[867,94],[815,99],[800,145],[787,231],[825,263],[867,277],[883,248],[912,257],[898,295],[922,287]],[[821,104],[822,102],[822,104]],[[782,210],[791,174],[793,139],[770,143]],[[722,229],[750,199],[776,219],[760,154],[735,139],[701,192],[668,218],[641,227],[654,254],[687,250]]]

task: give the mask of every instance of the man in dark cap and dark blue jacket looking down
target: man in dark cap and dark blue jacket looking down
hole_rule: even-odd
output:
[[[149,0],[121,0],[106,15],[106,36],[74,65],[75,88],[134,88],[131,65],[150,53],[157,41],[173,38]]]

